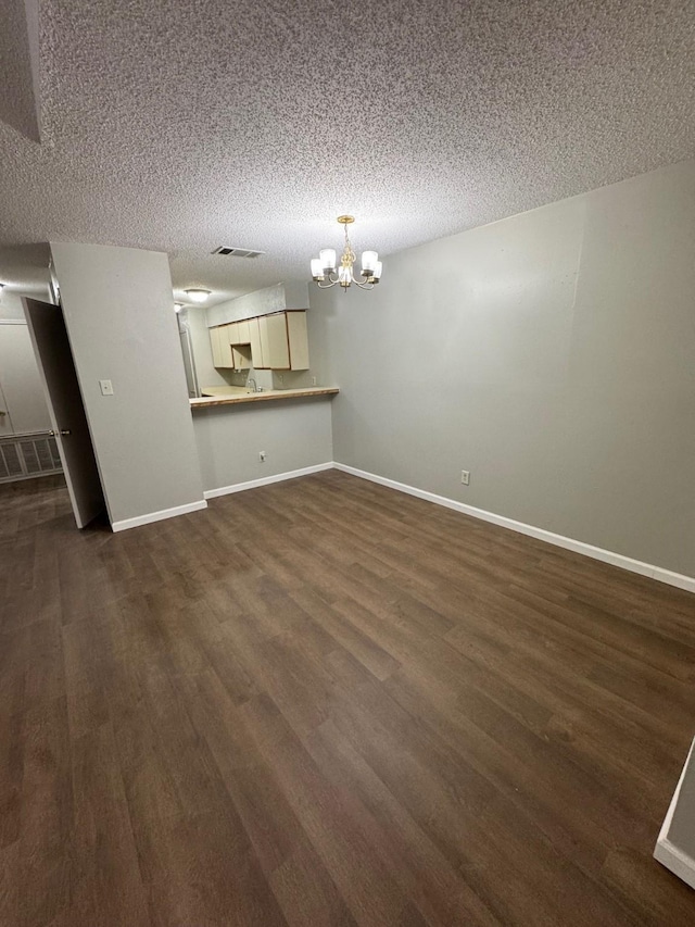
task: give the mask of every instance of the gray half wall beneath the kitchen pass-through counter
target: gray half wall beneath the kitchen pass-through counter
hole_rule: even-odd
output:
[[[193,412],[195,441],[205,489],[219,489],[333,458],[330,400],[325,398],[249,405],[222,405]],[[258,461],[265,451],[265,463]]]

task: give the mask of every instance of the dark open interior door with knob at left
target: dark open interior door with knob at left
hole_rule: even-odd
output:
[[[75,521],[84,528],[103,511],[104,497],[63,311],[35,299],[22,301]]]

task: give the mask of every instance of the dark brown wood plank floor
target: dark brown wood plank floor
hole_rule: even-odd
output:
[[[695,924],[692,594],[336,471],[0,512],[3,927]]]

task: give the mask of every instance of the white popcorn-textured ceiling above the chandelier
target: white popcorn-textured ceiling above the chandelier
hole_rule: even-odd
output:
[[[0,279],[35,273],[17,246],[127,245],[219,301],[306,278],[343,212],[384,256],[695,154],[695,0],[40,9],[41,142],[0,123]]]

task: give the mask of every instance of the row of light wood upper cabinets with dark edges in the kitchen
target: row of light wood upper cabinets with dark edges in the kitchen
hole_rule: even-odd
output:
[[[308,369],[306,312],[288,310],[210,329],[213,363],[237,371]],[[249,347],[250,346],[250,349]]]

